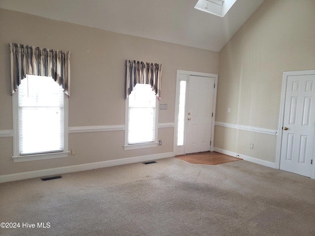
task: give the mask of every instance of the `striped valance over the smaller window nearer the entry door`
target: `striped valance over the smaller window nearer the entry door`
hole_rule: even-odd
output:
[[[162,64],[126,60],[125,98],[136,84],[151,85],[158,98],[161,98]]]

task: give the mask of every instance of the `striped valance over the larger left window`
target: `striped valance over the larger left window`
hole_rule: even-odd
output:
[[[70,52],[9,43],[11,58],[11,95],[26,75],[52,77],[70,96]]]

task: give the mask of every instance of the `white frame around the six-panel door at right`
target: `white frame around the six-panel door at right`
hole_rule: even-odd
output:
[[[276,169],[280,169],[281,161],[281,146],[282,146],[282,134],[284,125],[284,104],[285,95],[287,87],[287,79],[289,76],[299,76],[299,75],[315,75],[315,70],[300,70],[300,71],[284,71],[282,77],[282,90],[281,90],[281,100],[280,100],[280,116],[279,116],[279,126],[278,126],[278,138],[277,138],[277,149],[276,149]],[[315,146],[315,142],[313,144]],[[315,148],[314,148],[315,152]],[[315,153],[313,152],[313,160]],[[315,161],[315,160],[314,160]],[[311,178],[315,179],[315,163],[313,163]]]

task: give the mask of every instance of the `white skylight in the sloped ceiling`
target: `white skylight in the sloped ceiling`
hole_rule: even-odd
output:
[[[198,0],[195,9],[224,17],[236,0]]]

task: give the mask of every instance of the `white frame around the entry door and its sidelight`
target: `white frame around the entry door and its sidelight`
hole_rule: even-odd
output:
[[[174,143],[173,143],[173,153],[176,155],[176,148],[177,148],[177,130],[178,130],[178,113],[179,113],[179,92],[180,92],[180,77],[184,76],[189,79],[189,76],[203,76],[203,77],[212,77],[215,78],[215,88],[214,88],[214,95],[213,95],[213,118],[211,122],[211,145],[210,151],[214,151],[214,132],[215,132],[215,120],[216,120],[216,104],[217,104],[217,88],[218,88],[218,75],[211,74],[211,73],[204,73],[204,72],[196,72],[196,71],[187,71],[187,70],[177,70],[176,76],[176,93],[175,93],[175,114],[174,114]],[[185,107],[187,108],[187,100]],[[185,115],[186,118],[186,115]],[[186,130],[186,127],[185,127]],[[185,147],[185,144],[184,144]],[[185,148],[184,153],[185,154]]]

